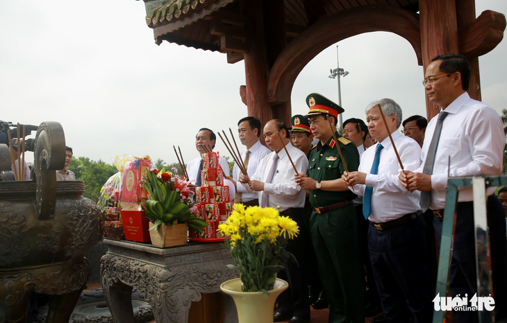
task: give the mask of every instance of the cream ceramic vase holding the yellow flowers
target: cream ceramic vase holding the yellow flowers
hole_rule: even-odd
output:
[[[263,292],[242,292],[241,279],[231,279],[220,285],[222,292],[233,297],[239,323],[273,323],[276,297],[289,287],[287,281],[276,279],[269,295]]]

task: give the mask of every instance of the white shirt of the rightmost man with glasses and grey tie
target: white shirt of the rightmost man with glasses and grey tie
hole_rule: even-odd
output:
[[[458,96],[444,111],[449,114],[442,123],[431,175],[430,209],[433,210],[445,207],[449,177],[499,175],[504,160],[504,125],[496,111],[481,101],[473,100],[467,92]],[[434,116],[426,128],[422,164],[416,170],[418,173],[422,173],[437,119],[438,115]],[[489,187],[488,195],[494,190],[495,187]],[[460,189],[458,202],[472,200],[471,188]]]

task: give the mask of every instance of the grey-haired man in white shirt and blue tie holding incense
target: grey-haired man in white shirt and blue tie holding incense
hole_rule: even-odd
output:
[[[357,172],[345,173],[342,179],[351,191],[363,196],[363,214],[369,220],[369,256],[384,315],[387,322],[409,322],[410,318],[431,322],[433,296],[428,286],[419,193],[407,191],[399,182],[402,170],[394,151],[397,149],[404,169],[414,170],[421,164],[421,148],[397,131],[401,108],[391,99],[369,103],[366,120],[369,133],[379,143],[363,153]]]

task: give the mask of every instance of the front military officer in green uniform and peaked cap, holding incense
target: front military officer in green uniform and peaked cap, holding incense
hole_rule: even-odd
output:
[[[336,131],[338,114],[343,108],[320,94],[306,98],[310,130],[319,143],[310,150],[308,173],[296,175],[296,182],[310,192],[313,211],[310,232],[329,302],[329,322],[365,322],[363,282],[360,277],[356,198],[341,179],[347,166],[359,166],[356,145]],[[338,139],[340,152],[333,139]]]

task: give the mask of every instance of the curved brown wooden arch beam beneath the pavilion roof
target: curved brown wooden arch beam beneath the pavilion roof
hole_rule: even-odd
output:
[[[354,35],[370,31],[390,31],[404,37],[422,64],[419,20],[413,14],[389,6],[363,6],[326,17],[290,42],[269,71],[269,104],[290,102],[290,92],[299,72],[327,47]]]

